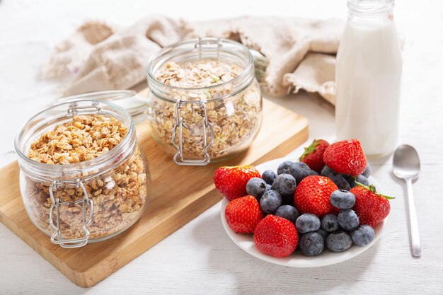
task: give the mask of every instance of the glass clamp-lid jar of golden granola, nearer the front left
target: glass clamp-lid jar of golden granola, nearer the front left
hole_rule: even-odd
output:
[[[115,118],[127,128],[125,137],[113,148],[86,161],[61,165],[28,157],[30,146],[45,132],[74,122],[76,116],[96,115]],[[76,127],[69,125],[69,132],[75,132]],[[117,105],[81,100],[47,108],[21,128],[15,149],[26,212],[35,226],[51,237],[52,243],[76,248],[103,241],[128,229],[146,209],[150,188],[148,163],[137,144],[132,117]]]

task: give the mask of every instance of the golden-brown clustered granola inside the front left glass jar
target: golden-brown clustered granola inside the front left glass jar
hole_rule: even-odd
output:
[[[126,134],[127,127],[114,117],[74,116],[71,121],[57,125],[35,140],[30,145],[28,157],[51,165],[88,161],[113,149]],[[146,173],[144,158],[137,147],[108,173],[99,173],[84,182],[93,201],[93,219],[87,226],[91,239],[112,236],[137,221],[146,204],[149,181]],[[79,172],[79,176],[87,175]],[[50,182],[27,177],[23,198],[30,218],[46,233],[54,231],[49,222],[52,206],[50,185]],[[83,193],[81,187],[75,185],[60,185],[54,191],[55,198],[69,202],[60,206],[63,238],[84,236],[82,207],[74,204],[74,201],[83,198]],[[88,216],[89,207],[86,213]]]

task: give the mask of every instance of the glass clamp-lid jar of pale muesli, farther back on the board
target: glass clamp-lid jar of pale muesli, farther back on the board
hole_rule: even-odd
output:
[[[235,64],[241,73],[222,83],[192,88],[158,79],[167,63],[208,60]],[[151,57],[147,80],[151,136],[174,154],[178,165],[206,165],[251,146],[262,120],[262,98],[248,48],[213,37],[178,42]]]

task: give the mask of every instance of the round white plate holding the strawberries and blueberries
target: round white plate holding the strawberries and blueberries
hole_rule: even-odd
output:
[[[275,160],[260,164],[255,168],[257,168],[260,171],[260,173],[263,173],[265,170],[268,169],[277,172],[278,166],[283,161],[285,161],[285,158],[277,158]],[[379,183],[372,176],[369,177],[369,183],[375,185],[377,191],[384,193]],[[231,240],[234,241],[234,243],[236,243],[238,247],[245,250],[247,253],[255,256],[256,258],[265,260],[270,263],[274,263],[276,265],[284,265],[287,267],[319,267],[326,265],[334,265],[335,263],[343,262],[345,260],[354,258],[355,256],[363,253],[364,251],[369,249],[369,247],[374,245],[374,243],[380,238],[384,224],[386,224],[386,219],[385,219],[383,222],[381,222],[374,228],[375,232],[374,240],[372,240],[371,243],[369,243],[364,247],[358,247],[357,245],[352,245],[351,248],[340,253],[333,253],[330,250],[325,249],[323,250],[323,253],[314,257],[306,257],[303,254],[301,254],[299,251],[297,251],[296,253],[287,256],[286,258],[275,258],[265,253],[261,253],[260,251],[257,250],[257,248],[255,248],[252,234],[236,233],[229,227],[229,225],[226,222],[226,219],[224,218],[224,210],[226,209],[226,206],[228,204],[229,201],[226,198],[223,198],[222,208],[220,210],[220,216],[222,218],[222,224],[224,230],[228,234],[229,238],[231,238]]]

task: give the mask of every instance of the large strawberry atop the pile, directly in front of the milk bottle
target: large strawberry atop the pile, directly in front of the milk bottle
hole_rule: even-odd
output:
[[[362,144],[357,139],[331,144],[323,154],[323,160],[336,173],[351,176],[362,174],[367,165]]]

